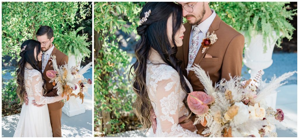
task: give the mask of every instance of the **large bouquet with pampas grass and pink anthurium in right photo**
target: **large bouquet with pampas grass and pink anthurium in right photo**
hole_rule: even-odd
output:
[[[206,126],[202,132],[209,137],[277,137],[271,132],[274,123],[284,119],[281,109],[273,110],[264,98],[286,82],[296,71],[285,73],[269,83],[261,80],[261,71],[255,80],[241,81],[241,77],[222,79],[213,87],[210,77],[198,65],[190,70],[199,78],[205,92],[191,92],[187,97],[190,110],[197,115],[194,124]]]

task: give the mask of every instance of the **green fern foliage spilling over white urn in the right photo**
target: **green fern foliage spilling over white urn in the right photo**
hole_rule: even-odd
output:
[[[282,38],[292,39],[295,28],[289,23],[297,14],[297,9],[287,10],[289,2],[211,2],[210,8],[214,9],[219,17],[237,31],[244,32],[250,42],[251,36],[261,33],[263,41],[273,38],[272,31],[278,38],[276,45],[281,47]],[[270,35],[271,34],[271,35]],[[264,45],[264,52],[267,50]]]

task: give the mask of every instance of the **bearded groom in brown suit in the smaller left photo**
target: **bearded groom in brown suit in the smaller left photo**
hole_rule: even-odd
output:
[[[51,55],[56,56],[57,65],[61,66],[65,63],[68,63],[68,56],[63,54],[61,51],[57,50],[57,48],[52,43],[54,40],[53,29],[49,26],[41,26],[36,32],[36,39],[41,43],[42,48],[42,61],[39,62],[39,68],[42,69],[43,76],[46,80],[46,88],[47,92],[45,94],[46,97],[54,97],[57,96],[57,90],[54,88],[52,83],[49,83],[50,78],[46,76],[46,71],[54,70],[51,60],[49,60]],[[26,103],[27,100],[27,103]],[[25,103],[28,104],[28,98],[26,96]],[[38,105],[34,102],[34,106],[41,107],[44,105]],[[62,107],[63,102],[55,102],[48,104],[50,122],[52,128],[52,136],[53,137],[61,137],[61,115],[62,115]]]

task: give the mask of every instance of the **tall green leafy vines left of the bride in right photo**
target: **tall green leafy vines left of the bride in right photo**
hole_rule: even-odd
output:
[[[127,123],[120,117],[124,113],[132,116],[135,95],[128,82],[132,57],[118,47],[116,33],[118,30],[137,33],[139,12],[144,3],[94,4],[94,121],[104,134],[123,131]]]

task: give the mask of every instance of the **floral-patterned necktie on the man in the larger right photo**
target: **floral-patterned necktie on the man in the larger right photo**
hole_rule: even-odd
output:
[[[196,57],[196,52],[197,52],[197,48],[198,48],[198,43],[199,43],[199,32],[200,29],[198,28],[198,26],[195,26],[193,28],[193,37],[191,40],[191,47],[189,48],[189,59],[188,59],[188,65],[187,65],[187,75],[189,74],[189,68],[192,67],[194,59]]]

